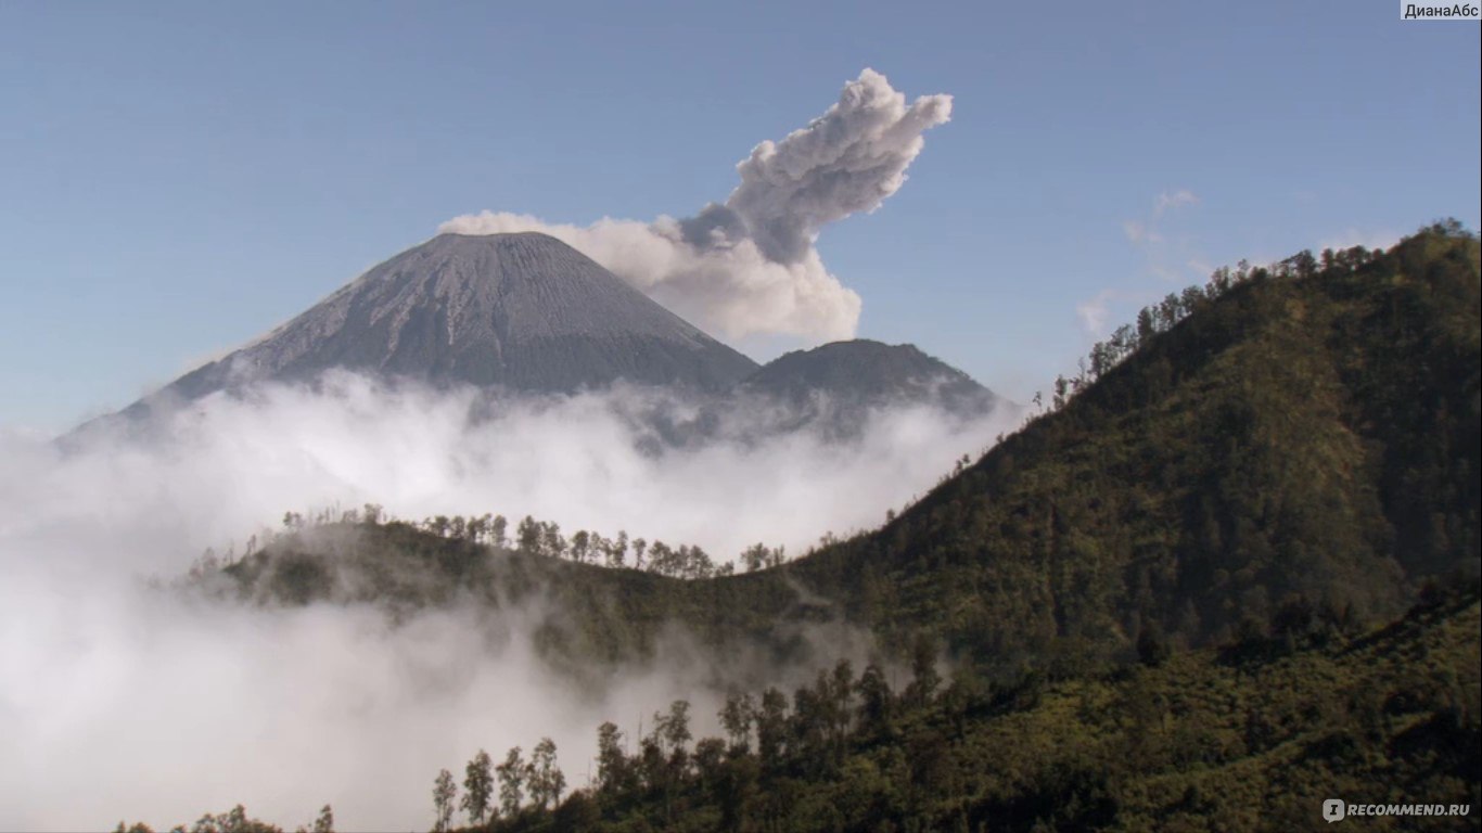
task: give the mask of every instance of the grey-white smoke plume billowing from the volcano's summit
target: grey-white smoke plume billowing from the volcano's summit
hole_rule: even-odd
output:
[[[814,240],[824,225],[871,212],[900,190],[922,151],[922,133],[950,117],[951,96],[907,104],[885,76],[864,70],[809,126],[759,144],[737,165],[741,184],[723,205],[688,219],[576,227],[485,210],[439,231],[544,231],[729,338],[851,338],[860,296],[828,273]]]

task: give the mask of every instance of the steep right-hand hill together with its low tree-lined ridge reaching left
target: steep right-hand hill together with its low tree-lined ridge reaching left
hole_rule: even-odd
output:
[[[806,649],[800,623],[848,621],[897,652],[926,633],[959,661],[1057,676],[1291,617],[1355,633],[1427,580],[1476,581],[1478,322],[1478,240],[1455,225],[1221,270],[901,517],[760,572],[685,581],[405,523],[286,535],[230,572],[290,602],[539,593],[542,643],[574,664],[642,655],[668,623],[785,655]]]

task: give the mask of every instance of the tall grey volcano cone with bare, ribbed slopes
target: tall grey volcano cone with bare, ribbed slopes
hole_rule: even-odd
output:
[[[162,393],[196,399],[330,368],[529,391],[617,379],[717,390],[756,363],[554,237],[442,234]]]

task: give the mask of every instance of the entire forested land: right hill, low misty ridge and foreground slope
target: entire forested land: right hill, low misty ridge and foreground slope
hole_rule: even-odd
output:
[[[491,791],[479,829],[1291,830],[1371,794],[1475,811],[1479,274],[1455,224],[1221,270],[880,529],[754,572],[360,517],[207,584],[393,611],[539,599],[541,648],[576,671],[673,624],[820,664],[805,627],[858,627],[916,668],[901,691],[874,664],[790,695],[759,682],[734,698],[745,731],[714,743],[676,729],[688,704],[655,704],[671,734],[611,747],[565,797],[547,780],[491,815]],[[531,763],[505,762],[528,790]]]

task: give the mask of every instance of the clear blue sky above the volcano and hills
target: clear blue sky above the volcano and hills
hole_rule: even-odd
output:
[[[453,215],[689,215],[865,67],[954,102],[818,240],[858,333],[1026,400],[1214,265],[1476,228],[1479,64],[1390,0],[9,0],[0,425],[127,405]]]

